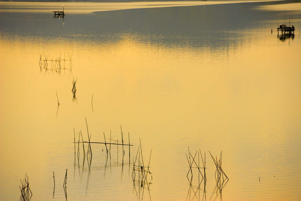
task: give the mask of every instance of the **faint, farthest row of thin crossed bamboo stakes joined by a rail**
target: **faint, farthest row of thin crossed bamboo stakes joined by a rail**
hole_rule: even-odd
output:
[[[55,71],[57,73],[60,73],[61,69],[67,69],[67,68],[65,68],[65,61],[69,61],[70,69],[67,69],[67,70],[71,71],[71,69],[72,69],[72,62],[71,62],[72,53],[71,53],[71,56],[70,56],[70,54],[68,52],[69,59],[65,59],[65,56],[66,56],[66,53],[64,53],[64,59],[61,58],[61,53],[60,53],[60,57],[54,58],[54,56],[52,56],[52,58],[48,59],[49,54],[48,54],[48,56],[46,56],[45,53],[43,52],[42,54],[40,54],[40,61],[39,61],[40,69],[42,70],[42,68],[43,68],[43,69],[46,69],[46,70],[51,70],[51,71]],[[48,62],[50,62],[50,68],[49,69],[48,69]]]

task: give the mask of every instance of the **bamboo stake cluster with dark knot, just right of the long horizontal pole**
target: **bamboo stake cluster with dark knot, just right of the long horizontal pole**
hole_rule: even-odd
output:
[[[140,151],[139,151],[139,148],[140,148]],[[139,156],[138,156],[138,153],[139,153]],[[141,159],[140,159],[140,155],[141,155]],[[133,181],[135,181],[136,172],[138,172],[139,183],[140,183],[140,179],[141,179],[141,185],[143,184],[142,181],[144,181],[144,183],[145,183],[145,181],[147,181],[148,174],[151,176],[151,179],[153,179],[152,173],[150,172],[150,166],[149,166],[150,162],[151,162],[151,154],[150,154],[148,166],[144,166],[144,161],[143,161],[143,156],[142,156],[142,148],[141,148],[141,139],[140,139],[140,145],[138,147],[135,160],[133,157],[133,172],[132,172]]]

